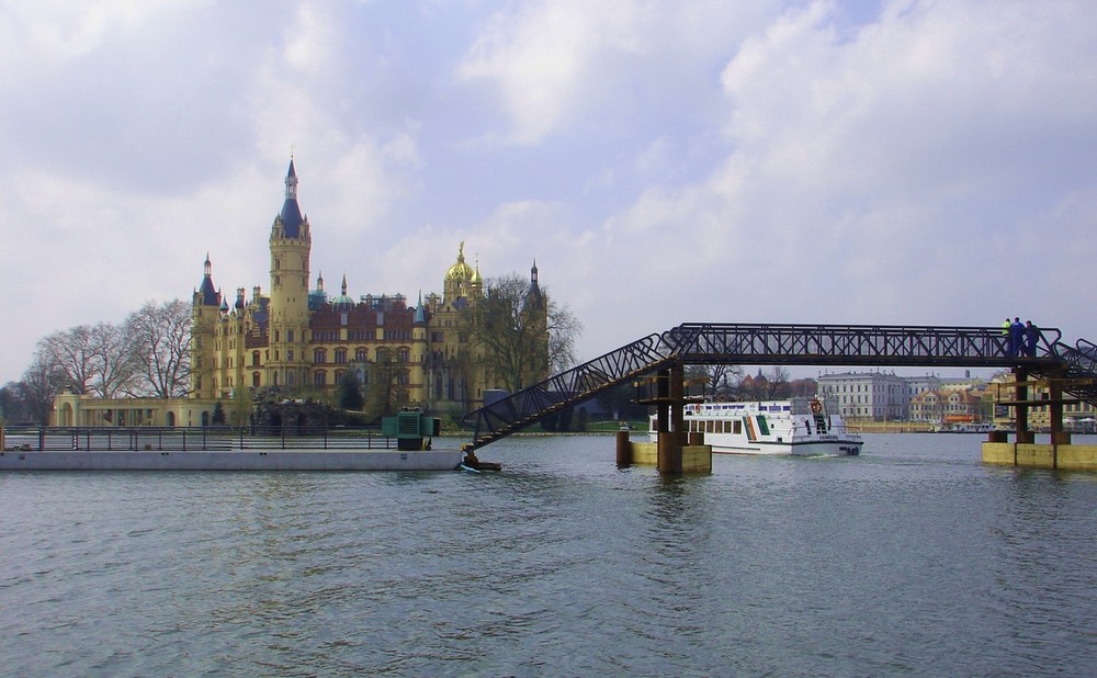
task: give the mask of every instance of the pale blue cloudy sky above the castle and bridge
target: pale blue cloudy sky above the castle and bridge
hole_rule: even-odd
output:
[[[1088,1],[0,0],[0,384],[36,342],[270,286],[291,155],[329,293],[465,244],[583,324],[1097,340]]]

